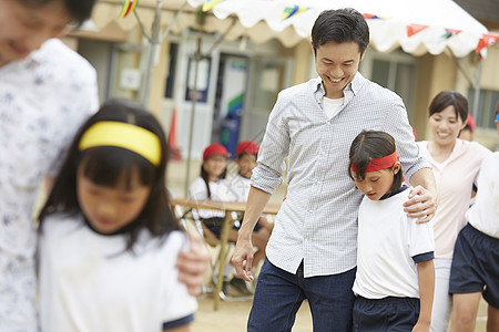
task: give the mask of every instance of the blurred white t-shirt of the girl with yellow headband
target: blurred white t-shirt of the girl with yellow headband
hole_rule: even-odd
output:
[[[162,242],[143,231],[135,253],[125,236],[103,236],[81,217],[50,216],[39,241],[40,320],[50,332],[163,331],[190,321],[196,299],[177,280],[179,251],[189,246],[174,231]]]

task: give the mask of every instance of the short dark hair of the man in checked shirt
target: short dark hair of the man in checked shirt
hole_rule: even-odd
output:
[[[356,42],[360,54],[369,44],[369,27],[364,15],[353,8],[325,10],[312,28],[312,45],[315,54],[325,43]]]

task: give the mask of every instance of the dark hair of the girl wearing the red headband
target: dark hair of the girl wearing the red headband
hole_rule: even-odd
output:
[[[396,151],[395,139],[390,134],[378,131],[363,131],[352,142],[348,163],[348,176],[352,179],[364,179],[366,177],[366,167],[371,159],[388,156]],[[352,165],[355,164],[356,173],[352,170]],[[404,181],[403,170],[394,176],[394,184],[390,191],[400,188]]]

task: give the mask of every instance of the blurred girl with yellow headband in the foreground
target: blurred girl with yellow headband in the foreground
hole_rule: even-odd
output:
[[[110,102],[77,134],[40,214],[42,331],[187,331],[187,245],[167,204],[166,143],[150,113]]]

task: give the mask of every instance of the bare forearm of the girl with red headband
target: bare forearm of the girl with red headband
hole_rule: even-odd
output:
[[[413,331],[429,331],[431,322],[431,307],[435,292],[435,266],[434,260],[417,263],[419,282],[419,319]]]

